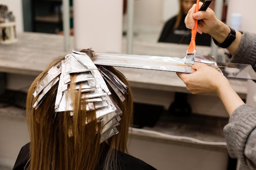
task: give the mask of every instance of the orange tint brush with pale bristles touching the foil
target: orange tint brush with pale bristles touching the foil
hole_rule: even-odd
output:
[[[199,10],[199,1],[196,1],[195,13]],[[186,51],[186,60],[185,64],[194,64],[195,63],[195,54],[196,54],[196,46],[195,46],[195,35],[198,29],[198,20],[195,20],[195,27],[191,31],[191,42],[189,44],[189,49]]]

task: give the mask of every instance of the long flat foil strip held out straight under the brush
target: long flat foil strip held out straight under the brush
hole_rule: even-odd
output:
[[[214,60],[214,58],[211,56],[195,56],[195,62],[206,62],[209,65],[213,64],[212,59]],[[96,53],[95,56],[92,57],[94,64],[105,66],[192,73],[191,65],[184,64],[185,60],[186,57],[160,57],[150,55],[128,55],[111,53]]]

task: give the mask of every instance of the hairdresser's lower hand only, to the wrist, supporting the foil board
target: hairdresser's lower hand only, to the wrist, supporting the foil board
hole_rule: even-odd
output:
[[[196,62],[192,66],[193,73],[177,73],[193,94],[218,93],[219,88],[229,84],[227,78],[211,66]]]

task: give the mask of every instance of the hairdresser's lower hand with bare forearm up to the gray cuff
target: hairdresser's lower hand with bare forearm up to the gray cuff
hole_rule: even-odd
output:
[[[234,110],[243,104],[230,85],[228,79],[215,68],[203,63],[192,65],[193,73],[177,73],[186,84],[186,88],[193,94],[216,93],[223,102],[227,112],[231,115]]]

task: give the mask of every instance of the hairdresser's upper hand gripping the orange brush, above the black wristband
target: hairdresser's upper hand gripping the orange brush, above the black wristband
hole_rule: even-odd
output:
[[[202,6],[202,2],[199,4],[199,8]],[[206,11],[198,11],[195,13],[195,4],[191,9],[189,9],[188,14],[185,18],[186,27],[189,29],[193,29],[195,27],[195,20],[201,20],[198,22],[198,33],[215,33],[216,30],[220,28],[220,25],[224,24],[218,18],[214,11],[208,8]]]

